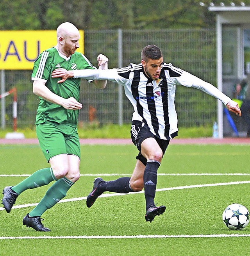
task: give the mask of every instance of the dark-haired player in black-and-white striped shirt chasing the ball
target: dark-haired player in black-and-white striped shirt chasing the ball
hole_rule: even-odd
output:
[[[139,150],[131,177],[104,181],[98,177],[93,190],[87,196],[87,207],[93,206],[97,197],[105,191],[129,193],[145,190],[146,221],[152,222],[166,207],[154,202],[157,170],[171,139],[178,134],[175,111],[175,88],[178,85],[194,87],[221,100],[227,108],[241,116],[238,104],[212,84],[163,62],[162,52],[155,45],[148,45],[141,52],[141,63],[111,70],[57,69],[52,77],[63,82],[68,78],[105,79],[124,86],[125,94],[134,107],[131,138]]]

